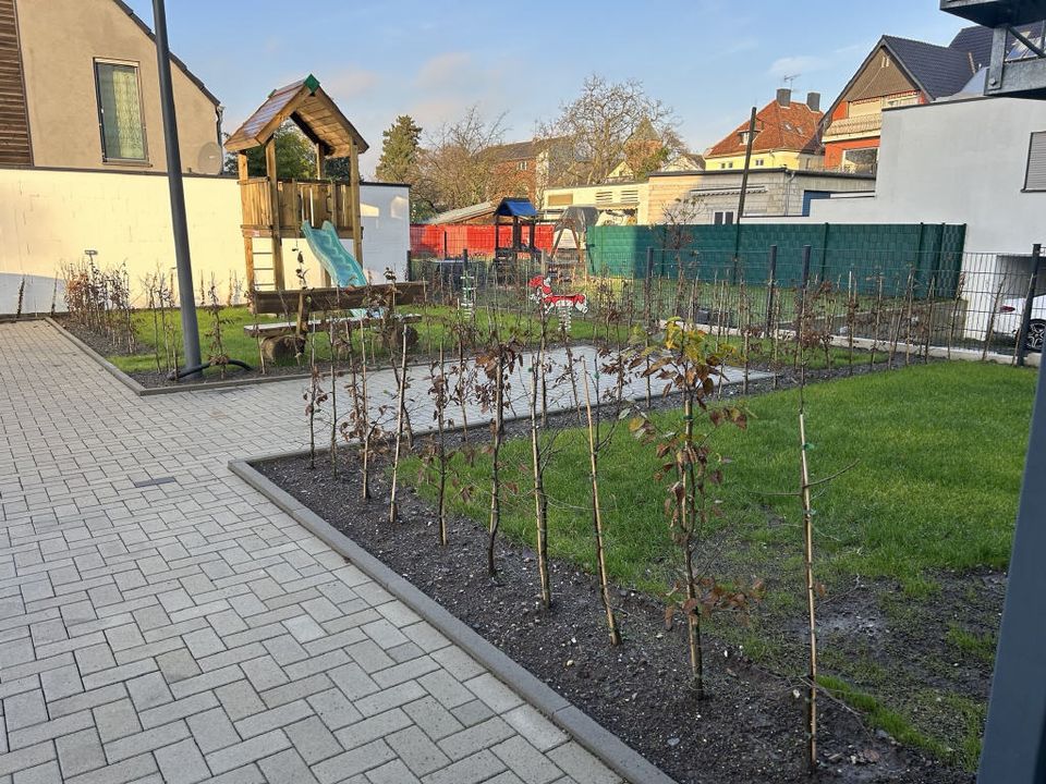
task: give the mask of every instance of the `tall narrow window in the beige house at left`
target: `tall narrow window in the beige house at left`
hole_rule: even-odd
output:
[[[147,161],[149,156],[145,142],[138,66],[134,63],[96,60],[95,84],[98,90],[102,160]]]

